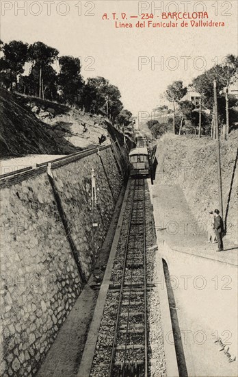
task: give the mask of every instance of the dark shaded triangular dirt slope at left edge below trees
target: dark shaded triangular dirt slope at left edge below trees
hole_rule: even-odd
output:
[[[0,88],[1,157],[26,154],[70,154],[76,148],[42,123],[21,99]]]

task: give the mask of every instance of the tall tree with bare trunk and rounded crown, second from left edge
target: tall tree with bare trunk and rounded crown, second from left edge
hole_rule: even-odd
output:
[[[29,46],[29,61],[31,62],[31,73],[38,73],[39,97],[44,99],[44,71],[47,66],[55,62],[59,51],[53,47],[45,45],[43,42],[34,42]]]

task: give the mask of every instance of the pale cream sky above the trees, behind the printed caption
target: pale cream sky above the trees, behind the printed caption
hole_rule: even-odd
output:
[[[228,53],[237,54],[237,0],[181,1],[5,1],[1,0],[1,40],[38,40],[59,50],[59,56],[81,58],[81,74],[103,76],[118,86],[124,108],[135,117],[163,105],[161,97],[174,80],[185,85],[222,62]],[[187,10],[185,9],[187,7]],[[157,8],[157,9],[156,9]],[[160,8],[160,9],[159,9]],[[183,20],[161,19],[161,12],[207,12],[202,21],[224,22],[224,27],[181,27]],[[132,28],[116,28],[113,13]],[[122,13],[127,19],[122,20]],[[139,14],[153,14],[142,23]],[[107,19],[103,19],[106,14]],[[146,15],[144,16],[146,17]],[[148,28],[154,23],[178,23],[178,27]],[[196,20],[197,21],[197,20]],[[157,64],[161,62],[161,64]]]

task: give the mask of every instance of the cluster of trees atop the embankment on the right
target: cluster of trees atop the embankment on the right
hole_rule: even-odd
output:
[[[230,93],[237,80],[238,57],[228,55],[221,64],[215,64],[195,77],[188,87],[183,86],[181,80],[172,82],[162,97],[172,104],[173,117],[169,116],[168,106],[159,106],[155,110],[160,114],[160,121],[151,119],[147,122],[150,132],[155,138],[168,131],[215,138],[215,81],[218,125],[222,136],[228,138],[230,130],[237,127],[237,91],[234,90],[234,95]]]

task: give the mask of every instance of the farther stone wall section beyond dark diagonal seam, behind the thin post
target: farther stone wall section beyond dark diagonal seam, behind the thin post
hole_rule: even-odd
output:
[[[83,275],[89,278],[92,271],[93,250],[100,250],[109,227],[122,183],[111,149],[72,162],[53,170],[55,186],[62,199],[62,206],[70,234],[79,250]],[[97,211],[95,245],[92,244],[91,170],[96,175]],[[65,179],[68,177],[68,179]]]

